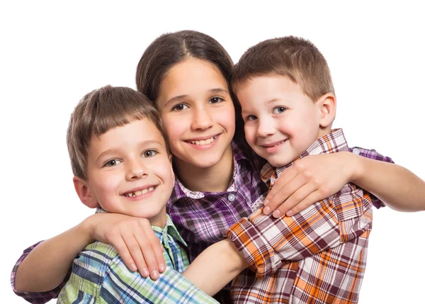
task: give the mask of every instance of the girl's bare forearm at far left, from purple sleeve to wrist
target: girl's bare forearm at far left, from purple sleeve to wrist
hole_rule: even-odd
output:
[[[94,242],[88,228],[83,222],[35,247],[16,271],[16,290],[42,292],[57,287],[77,254]]]

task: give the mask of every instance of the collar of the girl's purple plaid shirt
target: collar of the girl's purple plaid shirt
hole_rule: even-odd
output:
[[[248,160],[248,157],[244,154],[242,149],[237,145],[236,142],[232,141],[232,152],[233,152],[233,180],[232,184],[230,184],[229,188],[227,188],[227,191],[236,191],[238,188],[238,181],[237,178],[239,176],[239,162],[241,162],[243,159]],[[181,184],[181,181],[179,178],[176,177],[176,183],[174,184],[174,191],[171,194],[171,203],[175,203],[176,201],[179,201],[180,198],[188,197],[188,198],[203,198],[205,197],[205,193],[208,192],[202,192],[202,191],[191,191],[190,189],[186,188]]]

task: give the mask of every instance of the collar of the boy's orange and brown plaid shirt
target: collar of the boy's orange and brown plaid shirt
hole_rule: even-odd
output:
[[[320,137],[312,143],[297,159],[283,167],[272,167],[271,164],[265,164],[261,169],[261,179],[267,184],[274,184],[274,181],[282,174],[285,169],[292,166],[294,162],[308,155],[329,154],[335,152],[348,151],[348,145],[342,129],[331,130],[331,133]]]

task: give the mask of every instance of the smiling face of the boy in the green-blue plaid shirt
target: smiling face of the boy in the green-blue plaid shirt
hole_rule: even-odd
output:
[[[174,173],[164,137],[151,120],[133,120],[92,137],[87,176],[89,193],[106,211],[165,225]]]

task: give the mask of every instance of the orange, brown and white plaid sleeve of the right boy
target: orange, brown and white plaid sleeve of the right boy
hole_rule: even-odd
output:
[[[372,227],[370,197],[347,184],[331,198],[300,213],[273,218],[263,208],[227,231],[257,278],[275,273],[290,261],[299,261],[356,237],[368,236]]]

